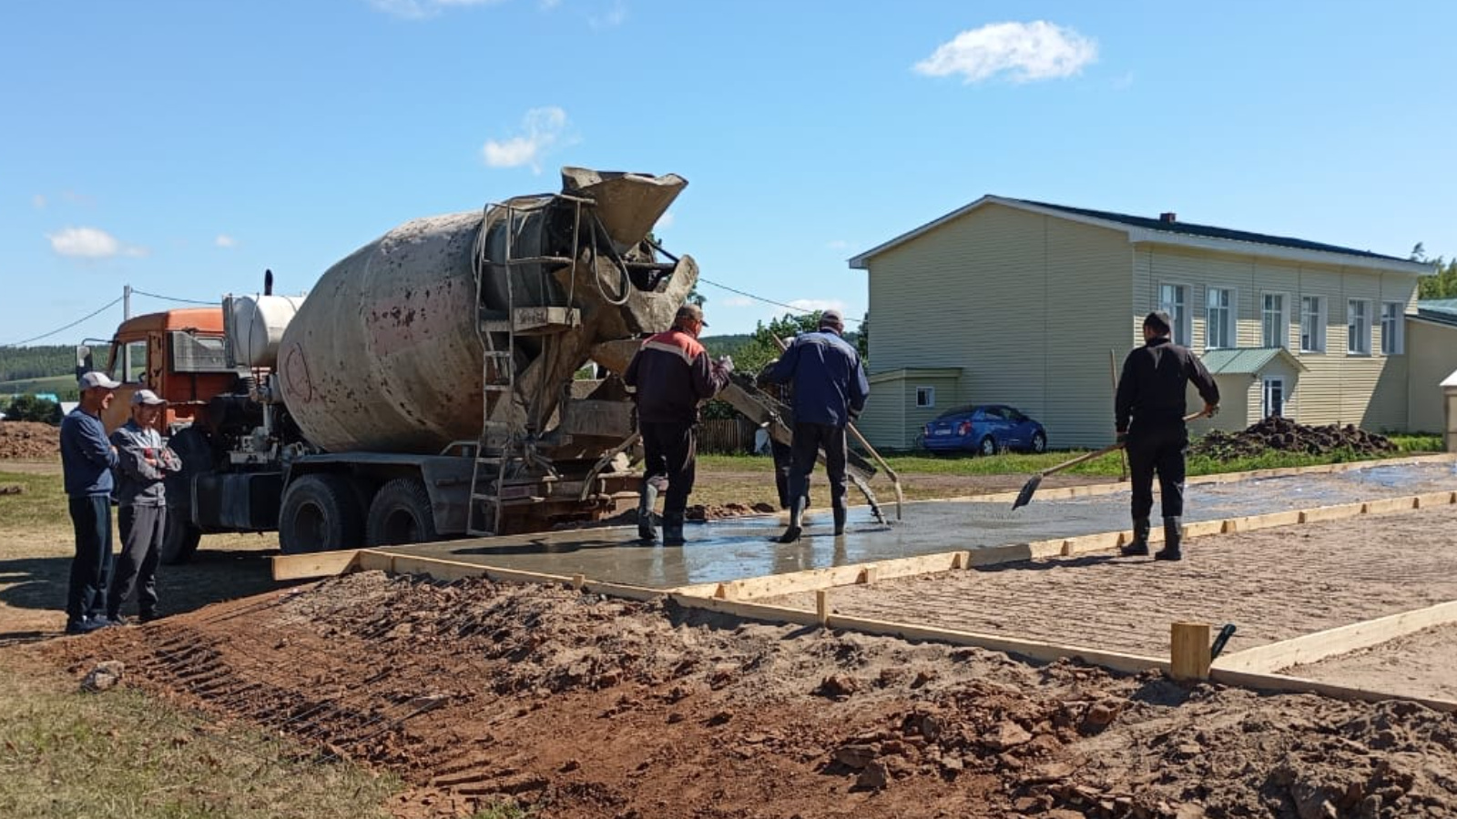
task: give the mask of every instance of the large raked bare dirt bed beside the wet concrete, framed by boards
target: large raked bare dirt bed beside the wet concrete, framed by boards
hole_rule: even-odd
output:
[[[1107,552],[845,586],[830,606],[1151,657],[1167,656],[1174,621],[1233,622],[1237,651],[1457,600],[1454,529],[1445,506],[1196,538],[1182,563]],[[756,602],[814,608],[812,595]]]

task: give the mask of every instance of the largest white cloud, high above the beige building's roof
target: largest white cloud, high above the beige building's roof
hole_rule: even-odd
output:
[[[915,64],[931,77],[960,74],[978,83],[1007,73],[1013,82],[1071,77],[1097,60],[1097,42],[1045,20],[991,23],[963,31]]]

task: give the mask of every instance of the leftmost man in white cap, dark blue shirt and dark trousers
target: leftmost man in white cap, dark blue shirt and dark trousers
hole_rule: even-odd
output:
[[[61,471],[66,482],[76,557],[66,595],[66,632],[86,634],[106,621],[106,574],[111,570],[111,469],[117,449],[106,440],[101,414],[121,383],[106,373],[80,377],[82,399],[61,418]]]

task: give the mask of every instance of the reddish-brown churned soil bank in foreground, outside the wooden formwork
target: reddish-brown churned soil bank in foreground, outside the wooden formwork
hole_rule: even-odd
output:
[[[396,816],[1457,815],[1457,721],[363,573],[45,648],[388,767]]]

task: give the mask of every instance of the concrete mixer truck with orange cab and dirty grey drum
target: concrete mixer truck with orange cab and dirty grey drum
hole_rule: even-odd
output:
[[[565,168],[561,192],[401,224],[306,297],[122,324],[108,426],[157,391],[184,462],[163,558],[205,532],[277,529],[293,554],[612,514],[637,491],[613,373],[698,278],[651,235],[685,185]]]

